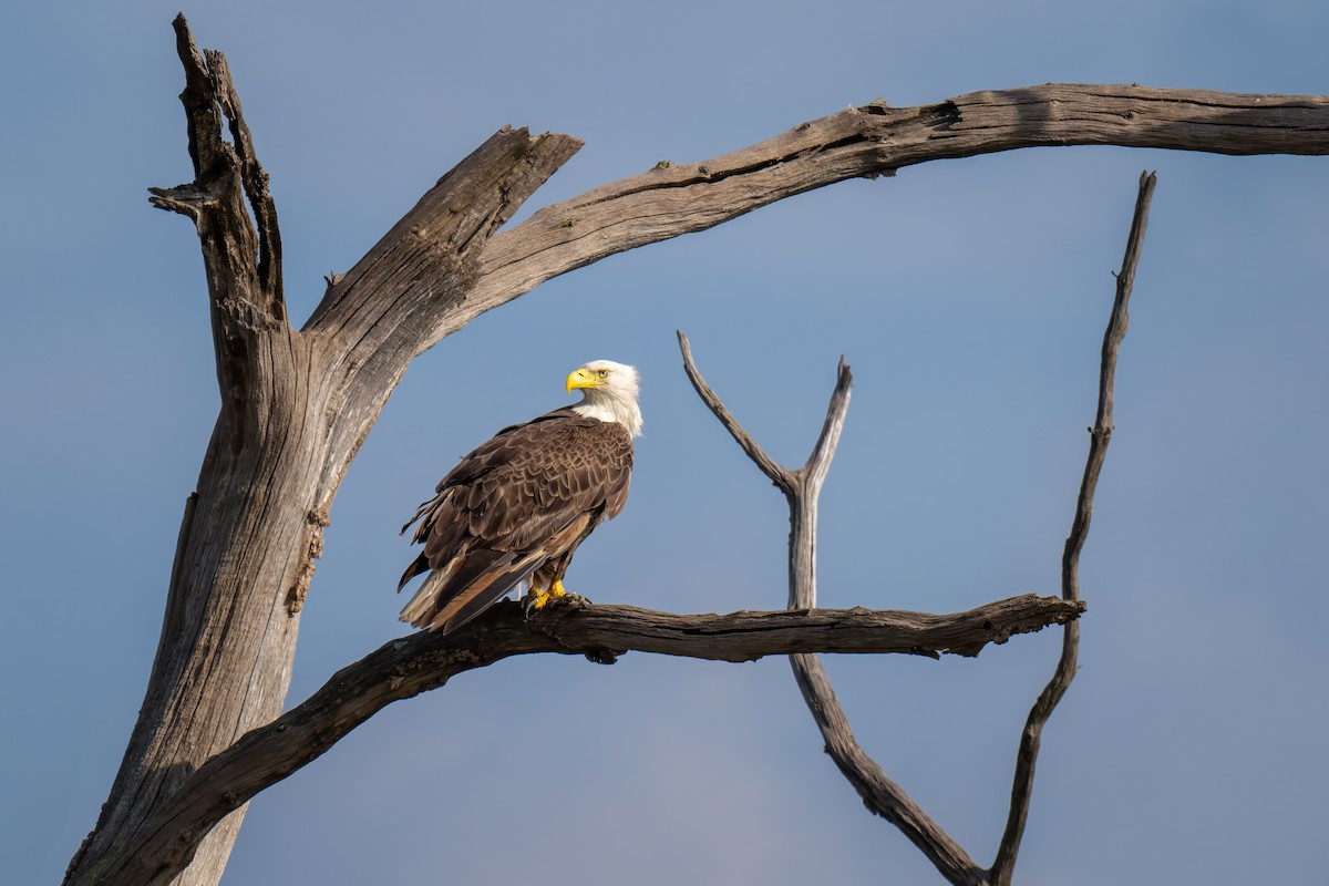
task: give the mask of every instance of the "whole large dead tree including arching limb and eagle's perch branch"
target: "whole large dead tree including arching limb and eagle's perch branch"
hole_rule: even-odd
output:
[[[356,717],[506,655],[607,660],[635,648],[755,658],[849,651],[840,643],[851,636],[853,651],[973,654],[1082,608],[1019,598],[956,616],[739,614],[684,623],[716,636],[738,630],[747,646],[736,647],[679,631],[676,619],[692,616],[594,607],[526,626],[496,607],[455,636],[379,650],[276,719],[328,510],[356,449],[409,361],[480,313],[607,255],[933,159],[1053,145],[1329,153],[1324,97],[1043,85],[918,108],[851,108],[700,163],[658,163],[501,230],[581,145],[505,128],[330,279],[296,329],[283,299],[276,210],[226,58],[199,52],[182,17],[175,32],[194,181],[153,189],[153,202],[198,230],[222,406],[186,501],[138,721],[68,883],[215,883],[254,793],[316,757]],[[764,630],[750,632],[743,619]]]

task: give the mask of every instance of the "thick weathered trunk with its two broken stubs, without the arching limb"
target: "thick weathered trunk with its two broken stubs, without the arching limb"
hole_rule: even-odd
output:
[[[577,145],[496,134],[361,262],[372,267],[332,287],[327,325],[296,332],[280,298],[276,210],[225,58],[201,53],[182,17],[175,31],[195,179],[153,189],[153,203],[198,227],[222,410],[181,529],[144,705],[69,883],[97,882],[203,761],[280,712],[347,465],[489,235]],[[234,146],[222,138],[223,116]],[[241,814],[175,882],[217,882]]]

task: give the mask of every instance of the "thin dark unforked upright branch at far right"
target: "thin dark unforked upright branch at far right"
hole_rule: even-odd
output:
[[[1078,603],[1079,595],[1079,555],[1088,537],[1090,517],[1094,513],[1094,490],[1098,486],[1098,476],[1103,469],[1103,460],[1107,457],[1107,444],[1112,440],[1112,385],[1116,377],[1116,356],[1122,349],[1122,340],[1126,337],[1126,328],[1130,324],[1131,290],[1135,286],[1135,268],[1140,262],[1140,248],[1144,244],[1144,231],[1148,227],[1150,202],[1154,199],[1154,186],[1158,183],[1154,173],[1140,173],[1140,190],[1135,201],[1135,215],[1131,219],[1131,232],[1126,242],[1126,255],[1122,258],[1122,271],[1116,275],[1116,298],[1112,302],[1112,315],[1107,321],[1107,331],[1103,333],[1103,356],[1099,369],[1098,385],[1098,414],[1090,432],[1088,458],[1084,464],[1084,477],[1080,481],[1079,495],[1075,502],[1075,518],[1071,523],[1071,533],[1066,538],[1066,549],[1062,554],[1062,598],[1067,602]],[[997,849],[997,858],[991,866],[991,881],[995,886],[1010,886],[1015,871],[1015,858],[1019,854],[1019,842],[1025,833],[1025,822],[1029,818],[1029,804],[1034,793],[1034,768],[1038,762],[1038,749],[1043,739],[1043,727],[1053,716],[1057,703],[1066,695],[1071,680],[1075,679],[1076,659],[1079,656],[1079,624],[1067,623],[1062,636],[1062,656],[1057,663],[1053,679],[1039,693],[1038,700],[1029,712],[1025,731],[1019,737],[1019,749],[1015,754],[1015,778],[1010,792],[1010,816],[1006,820],[1006,832],[1002,834],[1001,845]]]

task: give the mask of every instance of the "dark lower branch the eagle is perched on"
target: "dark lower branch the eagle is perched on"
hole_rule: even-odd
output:
[[[101,869],[98,883],[167,883],[227,813],[316,760],[385,705],[444,685],[457,673],[536,652],[610,663],[629,651],[719,662],[792,652],[904,652],[973,656],[1013,634],[1079,618],[1084,606],[1027,594],[968,612],[809,610],[672,615],[631,606],[565,606],[530,622],[516,603],[494,606],[448,635],[392,640],[332,676],[299,707],[214,756]]]

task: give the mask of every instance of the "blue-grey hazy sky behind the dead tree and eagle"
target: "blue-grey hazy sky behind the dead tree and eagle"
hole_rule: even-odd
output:
[[[142,697],[218,399],[178,4],[0,12],[0,857],[52,882]],[[1317,3],[193,4],[237,76],[302,320],[504,124],[586,141],[529,207],[878,96],[1047,81],[1325,93]],[[615,256],[423,355],[332,510],[291,701],[403,632],[396,527],[457,456],[643,376],[625,514],[569,586],[675,611],[784,600],[785,513],[696,400],[674,329],[777,460],[835,363],[827,606],[1055,592],[1142,169],[1159,187],[1082,563],[1082,671],[1045,735],[1018,882],[1314,882],[1329,616],[1329,161],[1042,149],[910,167]],[[526,210],[529,211],[529,210]],[[525,213],[524,213],[525,214]],[[978,660],[833,658],[855,729],[981,862],[1047,632]],[[223,882],[940,882],[821,753],[781,660],[505,662],[383,712],[254,804]]]

